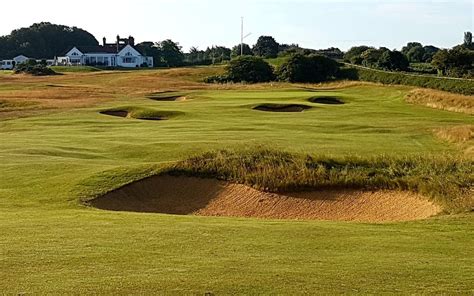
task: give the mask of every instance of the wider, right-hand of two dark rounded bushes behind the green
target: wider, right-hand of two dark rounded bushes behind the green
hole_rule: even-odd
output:
[[[322,82],[334,78],[339,64],[321,55],[293,54],[277,70],[279,80],[288,82]]]

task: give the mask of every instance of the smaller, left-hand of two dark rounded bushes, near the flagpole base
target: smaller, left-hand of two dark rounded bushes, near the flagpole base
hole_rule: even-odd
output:
[[[274,79],[273,68],[262,58],[239,56],[227,66],[227,80],[233,82],[268,82]]]

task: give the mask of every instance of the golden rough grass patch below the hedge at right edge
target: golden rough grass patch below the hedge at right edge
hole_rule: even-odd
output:
[[[431,89],[415,89],[408,93],[407,102],[453,112],[474,114],[474,96],[465,96]]]

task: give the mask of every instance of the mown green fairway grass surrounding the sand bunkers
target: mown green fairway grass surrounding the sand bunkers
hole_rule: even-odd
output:
[[[374,225],[113,213],[79,202],[217,149],[460,155],[432,130],[471,124],[472,116],[409,105],[409,90],[201,90],[183,102],[124,97],[0,121],[0,291],[469,294],[472,214]],[[346,104],[308,102],[320,95]],[[252,110],[262,103],[314,108]],[[99,113],[121,106],[182,115],[152,122]]]

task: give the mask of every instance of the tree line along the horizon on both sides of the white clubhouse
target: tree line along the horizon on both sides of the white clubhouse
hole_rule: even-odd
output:
[[[0,59],[18,55],[32,58],[53,58],[65,54],[73,46],[98,46],[89,32],[47,22],[12,31],[0,37]],[[228,63],[243,53],[264,59],[290,57],[295,54],[322,55],[331,59],[369,68],[390,71],[416,71],[452,77],[474,77],[474,46],[472,33],[466,32],[464,42],[451,49],[409,42],[401,51],[386,47],[355,46],[343,53],[338,48],[314,50],[298,44],[280,44],[272,36],[260,36],[255,45],[237,44],[232,48],[212,46],[205,50],[191,47],[184,53],[179,43],[172,40],[142,42],[136,45],[144,55],[152,56],[156,67],[179,67]]]

